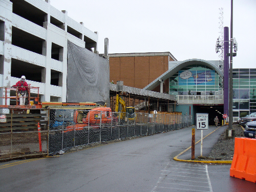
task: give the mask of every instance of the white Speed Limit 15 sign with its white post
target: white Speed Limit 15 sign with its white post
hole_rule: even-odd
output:
[[[208,113],[197,113],[196,129],[201,130],[201,156],[203,156],[203,130],[208,130]]]

